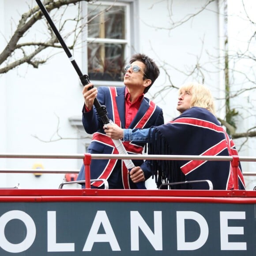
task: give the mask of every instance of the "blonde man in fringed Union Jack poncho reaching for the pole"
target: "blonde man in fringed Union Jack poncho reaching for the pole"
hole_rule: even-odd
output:
[[[181,113],[173,121],[148,129],[105,128],[113,139],[149,143],[149,154],[175,155],[237,155],[233,140],[215,117],[215,105],[210,90],[200,83],[188,83],[179,89],[177,110]],[[233,189],[233,171],[229,161],[152,161],[152,172],[169,182],[210,180],[213,189]],[[208,189],[205,182],[174,186],[174,188]],[[239,189],[245,183],[239,166]]]

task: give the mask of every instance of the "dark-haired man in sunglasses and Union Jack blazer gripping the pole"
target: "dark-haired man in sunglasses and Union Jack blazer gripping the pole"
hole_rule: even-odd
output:
[[[101,105],[106,106],[108,117],[120,128],[149,128],[164,123],[162,109],[144,97],[154,81],[158,78],[159,68],[154,61],[144,54],[135,54],[124,68],[124,87],[83,88],[83,126],[85,131],[93,134],[88,147],[91,154],[118,154],[112,139],[106,136],[101,118],[94,107],[97,97]],[[124,143],[129,154],[142,154],[145,143]],[[133,160],[136,167],[128,172],[122,160],[92,159],[90,165],[91,179],[107,179],[109,188],[137,188],[136,183],[144,182],[151,176],[148,161]],[[82,166],[77,180],[84,180]],[[82,184],[82,188],[84,184]],[[102,182],[92,183],[93,188],[102,188]]]

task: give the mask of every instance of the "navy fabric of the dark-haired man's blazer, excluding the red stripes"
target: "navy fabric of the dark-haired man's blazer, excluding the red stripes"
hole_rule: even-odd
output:
[[[120,117],[121,122],[121,128],[125,128],[125,87],[117,87],[117,109]],[[110,97],[110,92],[108,87],[98,87],[98,95],[97,95],[98,101],[101,105],[106,106],[106,110],[108,112],[108,117],[110,120],[113,120],[113,111],[112,111],[112,100]],[[136,114],[136,117],[134,120],[132,120],[132,123],[130,124],[129,128],[134,128],[135,125],[139,122],[139,120],[143,117],[143,115],[147,112],[147,109],[149,108],[149,99],[143,98],[141,105],[139,107],[138,113]],[[147,123],[143,128],[150,128],[151,126],[158,126],[164,123],[163,118],[163,112],[162,109],[158,106],[156,106],[153,114],[147,120]],[[94,132],[100,132],[105,134],[103,129],[103,123],[101,118],[98,116],[95,107],[90,112],[84,111],[83,106],[83,126],[87,133],[93,134]],[[145,146],[145,143],[139,143],[139,142],[132,142],[134,144],[137,144],[141,147]],[[105,145],[104,143],[100,143],[98,141],[92,141],[88,147],[88,153],[91,154],[112,154],[112,147],[109,147],[108,145]],[[135,166],[140,166],[141,169],[143,169],[145,178],[148,179],[152,173],[151,173],[151,166],[148,161],[143,160],[133,160]],[[108,163],[108,159],[98,160],[98,159],[92,159],[91,165],[90,165],[90,177],[91,179],[97,179],[102,171],[105,169],[106,165]],[[108,182],[109,182],[109,188],[123,188],[121,179],[120,179],[120,172],[121,169],[121,161],[118,160],[117,164],[110,175]],[[84,173],[84,165],[82,166],[77,180],[84,180],[85,179],[85,173]],[[129,181],[131,188],[136,188],[136,184],[134,184],[131,180]],[[84,187],[84,185],[82,185]]]

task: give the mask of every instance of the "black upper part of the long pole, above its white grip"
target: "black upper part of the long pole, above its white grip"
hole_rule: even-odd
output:
[[[75,62],[74,57],[72,56],[72,53],[68,49],[68,46],[65,44],[63,38],[61,37],[59,31],[57,30],[55,24],[53,23],[53,20],[51,19],[48,11],[46,10],[46,8],[43,5],[43,3],[41,2],[41,0],[36,0],[36,2],[38,4],[39,8],[41,9],[42,13],[45,15],[45,18],[47,19],[49,25],[51,26],[54,34],[58,38],[65,53],[68,55],[68,59],[71,61],[73,67],[75,68],[75,71],[79,75],[79,79],[80,79],[81,83],[83,84],[83,86],[87,85],[88,83],[90,83],[88,75],[83,75],[83,73],[81,72],[80,68],[78,67],[78,65]],[[102,119],[103,124],[109,124],[109,118],[107,116],[108,113],[107,113],[106,107],[104,105],[101,105],[97,98],[94,99],[94,106],[97,109],[98,115]]]

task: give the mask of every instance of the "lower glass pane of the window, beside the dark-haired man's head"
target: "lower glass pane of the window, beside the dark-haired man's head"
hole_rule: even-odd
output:
[[[88,75],[91,80],[122,81],[123,44],[88,43]]]

